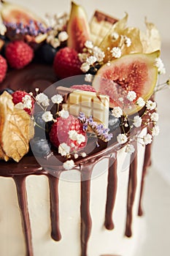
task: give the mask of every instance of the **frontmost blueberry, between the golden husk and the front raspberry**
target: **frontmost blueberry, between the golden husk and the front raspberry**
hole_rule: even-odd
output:
[[[45,138],[33,138],[30,141],[31,150],[36,157],[47,157],[50,154],[50,143]]]

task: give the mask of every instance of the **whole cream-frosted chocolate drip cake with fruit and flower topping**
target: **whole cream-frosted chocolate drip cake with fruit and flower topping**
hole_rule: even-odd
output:
[[[127,28],[128,15],[117,20],[99,11],[89,27],[82,7],[72,3],[69,19],[61,16],[61,30],[45,27],[33,36],[29,26],[21,31],[26,24],[16,20],[14,10],[21,18],[28,14],[4,3],[2,45],[6,37],[25,41],[34,49],[34,59],[21,61],[24,67],[18,68],[15,57],[15,67],[9,66],[0,83],[6,89],[0,96],[1,256],[136,255],[144,177],[152,137],[159,131],[152,95],[158,73],[164,72],[158,31],[146,23],[147,32],[157,33],[153,39]],[[38,19],[32,14],[28,18]],[[50,44],[55,56],[49,64],[42,49]],[[73,69],[66,60],[70,51],[76,55]],[[117,71],[111,72],[115,69],[118,78]],[[26,107],[23,98],[28,99]],[[32,121],[42,110],[47,116],[40,121],[47,132],[34,128]],[[45,144],[37,149],[40,140]]]

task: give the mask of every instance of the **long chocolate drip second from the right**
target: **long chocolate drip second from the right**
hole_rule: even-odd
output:
[[[134,199],[136,195],[137,187],[137,146],[134,144],[135,151],[131,154],[131,163],[129,167],[129,176],[128,176],[128,199],[127,199],[127,217],[125,225],[125,236],[131,237],[131,223],[133,218],[133,206]]]

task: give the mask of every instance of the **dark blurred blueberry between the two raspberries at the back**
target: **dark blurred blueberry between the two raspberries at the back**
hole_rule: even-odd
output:
[[[46,64],[53,64],[57,50],[58,48],[53,48],[52,45],[45,43],[36,50],[36,57]]]

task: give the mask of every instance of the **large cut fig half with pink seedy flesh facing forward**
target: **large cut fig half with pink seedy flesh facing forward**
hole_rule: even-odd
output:
[[[142,97],[150,99],[158,78],[158,68],[155,59],[160,55],[153,53],[132,53],[115,59],[98,69],[93,80],[93,87],[101,94],[107,94],[110,108],[120,106],[125,114],[131,115],[141,109],[135,104]],[[129,102],[128,91],[136,92],[136,99]],[[120,100],[121,99],[121,100]]]

